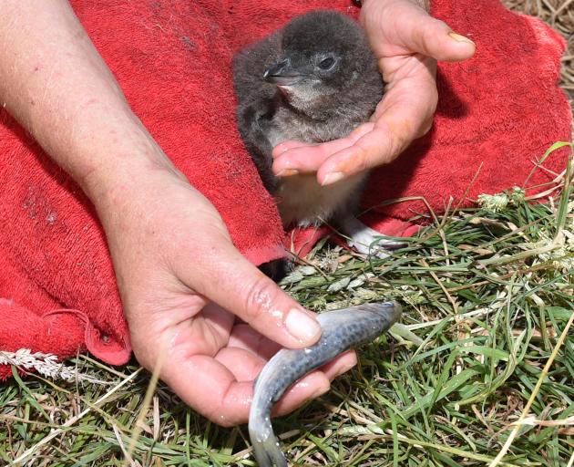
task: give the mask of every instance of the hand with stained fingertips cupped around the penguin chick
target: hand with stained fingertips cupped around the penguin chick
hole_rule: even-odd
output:
[[[361,23],[386,83],[371,121],[346,138],[273,149],[279,176],[317,172],[323,185],[393,161],[430,130],[436,110],[436,60],[472,57],[474,43],[429,16],[414,0],[366,0]]]

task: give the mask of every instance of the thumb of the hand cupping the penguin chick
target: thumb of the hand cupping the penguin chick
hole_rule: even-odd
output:
[[[397,18],[398,19],[398,18]],[[454,32],[445,22],[414,8],[401,18],[399,36],[406,50],[434,57],[436,60],[456,62],[472,57],[475,43]]]

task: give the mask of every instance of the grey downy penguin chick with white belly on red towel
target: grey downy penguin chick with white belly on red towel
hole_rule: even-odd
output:
[[[241,137],[283,226],[332,223],[368,254],[381,234],[354,217],[366,172],[324,187],[315,174],[278,178],[272,172],[278,143],[343,138],[374,113],[384,82],[361,26],[334,11],[297,16],[235,57],[234,85]]]

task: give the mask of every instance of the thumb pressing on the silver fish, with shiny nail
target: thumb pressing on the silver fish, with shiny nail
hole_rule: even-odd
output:
[[[209,264],[192,267],[192,288],[283,347],[308,347],[321,337],[316,315],[287,296],[231,242],[218,244]]]

